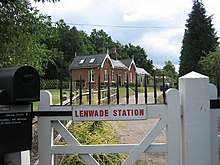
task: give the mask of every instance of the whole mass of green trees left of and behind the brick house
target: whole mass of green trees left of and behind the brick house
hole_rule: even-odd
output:
[[[75,55],[107,51],[111,55],[113,48],[117,59],[134,56],[138,67],[150,73],[153,68],[152,60],[140,46],[115,42],[103,30],[93,29],[88,35],[64,20],[54,24],[28,0],[0,3],[0,31],[0,67],[31,65],[45,79],[70,79],[69,65]]]

